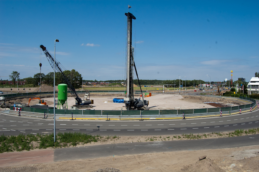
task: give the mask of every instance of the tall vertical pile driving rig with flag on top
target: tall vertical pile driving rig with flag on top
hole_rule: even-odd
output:
[[[138,73],[136,70],[136,66],[134,63],[134,47],[132,47],[132,19],[136,19],[132,13],[125,13],[127,16],[127,79],[126,86],[127,92],[125,94],[124,103],[127,110],[135,110],[135,109],[143,109],[148,110],[148,100],[144,100],[143,93],[141,90]],[[142,100],[134,99],[134,91],[133,91],[133,66],[136,71],[136,75],[138,77],[139,87],[142,94]],[[146,107],[145,107],[146,106]]]

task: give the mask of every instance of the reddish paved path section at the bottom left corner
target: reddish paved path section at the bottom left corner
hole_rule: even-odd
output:
[[[54,162],[54,149],[0,154],[0,167]]]

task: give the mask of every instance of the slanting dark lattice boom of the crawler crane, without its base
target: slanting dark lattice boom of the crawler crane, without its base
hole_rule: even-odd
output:
[[[57,71],[59,71],[59,73],[57,73],[57,75],[59,76],[59,79],[61,81],[63,81],[65,84],[67,84],[68,90],[69,92],[74,96],[74,98],[76,99],[77,105],[80,105],[82,103],[82,99],[78,96],[78,94],[76,93],[75,88],[72,86],[72,84],[70,83],[69,79],[67,78],[67,76],[64,74],[64,72],[62,71],[61,67],[60,67],[60,63],[55,59],[55,64],[54,64],[54,58],[52,57],[52,55],[46,50],[46,47],[44,47],[43,45],[40,45],[40,48],[42,49],[42,51],[45,53],[49,64],[51,65],[51,67],[54,70],[54,65],[55,68],[57,69]],[[54,71],[55,72],[55,71]]]

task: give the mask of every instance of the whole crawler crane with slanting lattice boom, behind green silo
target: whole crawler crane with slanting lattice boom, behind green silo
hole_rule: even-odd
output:
[[[73,95],[73,97],[76,99],[76,103],[75,107],[77,108],[92,108],[91,105],[89,104],[93,104],[93,100],[90,100],[88,99],[88,96],[89,96],[89,91],[87,91],[84,95],[84,98],[81,99],[75,88],[73,87],[73,85],[70,83],[69,79],[67,78],[67,76],[64,74],[64,72],[62,71],[61,69],[61,64],[57,61],[57,59],[55,59],[55,64],[54,64],[54,58],[51,56],[51,54],[46,50],[46,47],[44,47],[43,45],[40,46],[40,48],[42,49],[42,51],[45,53],[48,61],[49,61],[49,64],[51,65],[51,67],[53,68],[54,70],[54,65],[55,65],[55,68],[57,71],[56,74],[57,76],[59,77],[59,79],[64,82],[64,84],[67,84],[67,88],[68,88],[68,91]],[[55,71],[54,71],[55,72]]]

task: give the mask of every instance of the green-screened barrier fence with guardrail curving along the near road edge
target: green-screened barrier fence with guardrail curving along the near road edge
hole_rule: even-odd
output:
[[[225,98],[225,97],[221,97]],[[120,119],[131,119],[135,117],[142,116],[150,117],[150,119],[154,119],[154,117],[161,118],[178,118],[179,116],[183,116],[185,114],[185,117],[197,117],[197,116],[219,116],[220,111],[222,112],[222,115],[231,114],[235,112],[239,112],[239,109],[242,109],[243,111],[246,111],[247,109],[250,111],[250,108],[257,107],[256,100],[246,97],[241,97],[239,99],[248,100],[252,102],[251,104],[246,105],[240,105],[240,106],[233,106],[233,107],[222,107],[222,108],[204,108],[204,109],[181,109],[181,110],[64,110],[64,109],[56,109],[55,114],[57,116],[71,116],[73,113],[73,116],[81,116],[84,118],[90,118],[90,117],[97,117],[102,118],[106,117],[107,115],[111,118],[120,118]],[[10,112],[13,111],[13,106],[10,107]],[[53,109],[40,109],[40,108],[31,108],[31,107],[22,107],[21,112],[29,112],[30,116],[31,114],[44,114],[46,113],[49,117],[53,116],[54,110]],[[50,114],[50,115],[49,115]]]

